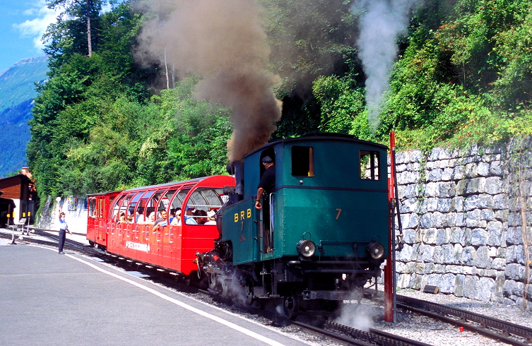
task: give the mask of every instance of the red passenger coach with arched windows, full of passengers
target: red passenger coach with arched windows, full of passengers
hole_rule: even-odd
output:
[[[190,275],[197,270],[196,252],[213,249],[218,229],[203,225],[205,216],[185,215],[186,210],[217,211],[227,200],[224,186],[235,186],[235,178],[219,175],[90,194],[87,239],[110,253]],[[153,225],[162,210],[167,217]]]

